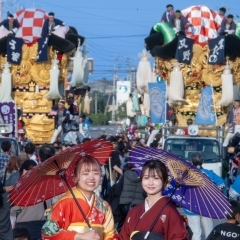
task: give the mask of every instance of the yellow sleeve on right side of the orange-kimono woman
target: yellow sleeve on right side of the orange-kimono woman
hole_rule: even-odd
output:
[[[108,211],[106,213],[106,220],[103,224],[104,227],[104,240],[119,240],[118,234],[114,228],[114,221],[113,221],[113,215],[112,210],[108,206]]]

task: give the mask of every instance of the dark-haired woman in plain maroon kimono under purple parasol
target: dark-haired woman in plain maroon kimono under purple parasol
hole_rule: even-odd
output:
[[[145,163],[141,174],[142,187],[147,193],[145,201],[129,211],[120,232],[121,240],[128,240],[136,232],[147,232],[168,197],[162,196],[162,189],[168,182],[165,165],[157,160]],[[152,232],[160,233],[165,240],[187,240],[183,220],[173,206],[168,203]]]

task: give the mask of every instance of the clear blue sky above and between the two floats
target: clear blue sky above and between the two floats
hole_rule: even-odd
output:
[[[86,38],[87,55],[94,59],[90,81],[112,80],[114,69],[124,79],[129,69],[137,68],[144,38],[167,4],[173,4],[175,10],[201,4],[213,10],[224,6],[227,14],[240,15],[240,0],[3,0],[5,6],[17,1],[24,8],[54,12],[56,18]]]

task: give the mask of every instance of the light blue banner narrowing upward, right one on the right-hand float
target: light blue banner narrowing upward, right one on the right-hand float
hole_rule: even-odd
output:
[[[202,89],[200,102],[195,118],[195,124],[215,125],[216,113],[212,111],[213,106],[213,90],[212,87]]]

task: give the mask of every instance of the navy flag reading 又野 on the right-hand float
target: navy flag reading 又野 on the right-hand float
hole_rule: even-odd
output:
[[[194,40],[178,36],[178,45],[175,58],[178,62],[190,64],[193,56],[193,42]]]

